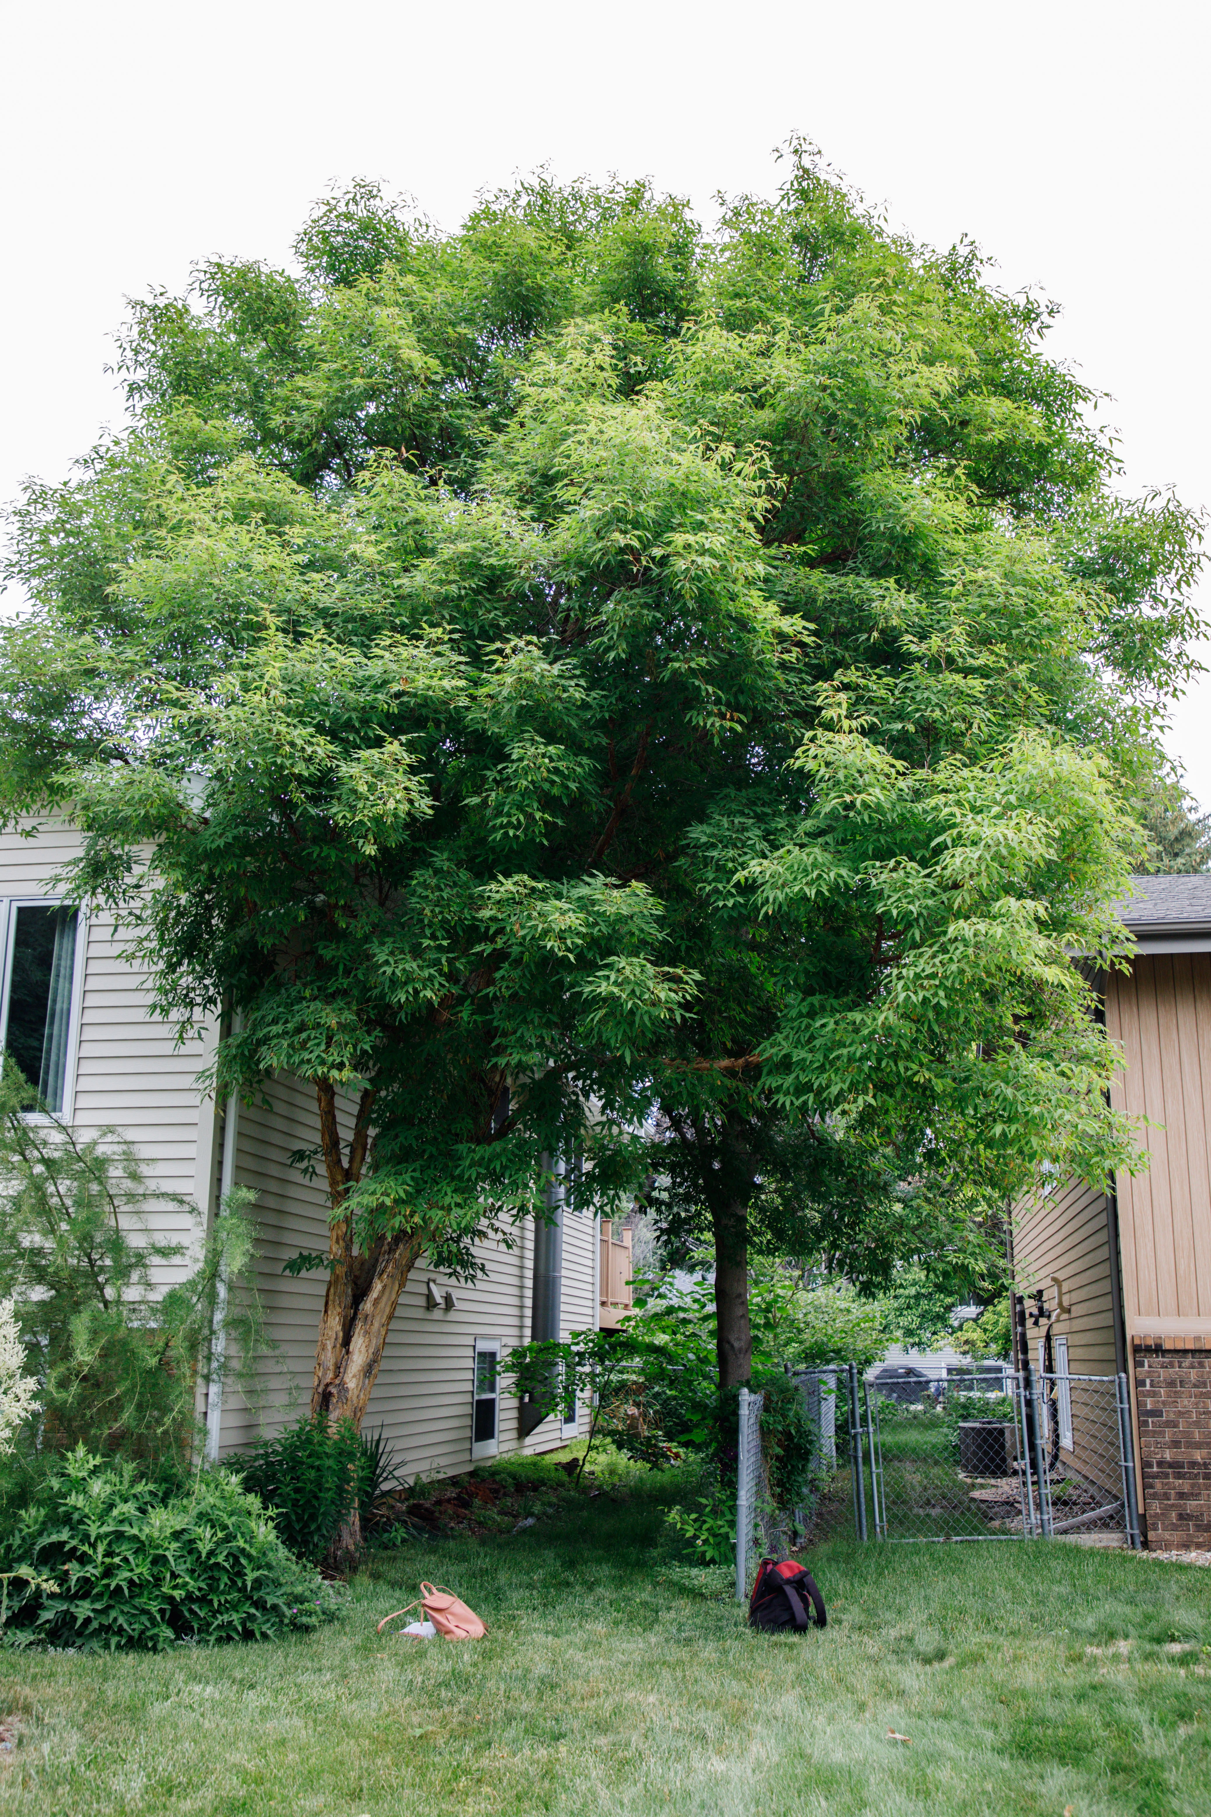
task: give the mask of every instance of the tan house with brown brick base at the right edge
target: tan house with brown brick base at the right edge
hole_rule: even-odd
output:
[[[1124,1070],[1111,1103],[1147,1117],[1149,1167],[1115,1192],[1055,1181],[1017,1206],[1019,1290],[1055,1372],[1131,1388],[1153,1548],[1211,1546],[1211,876],[1133,878],[1129,972],[1098,978]],[[1039,1297],[1040,1296],[1040,1297]],[[1029,1361],[1039,1366],[1039,1355]],[[1062,1417],[1060,1417],[1062,1425]]]

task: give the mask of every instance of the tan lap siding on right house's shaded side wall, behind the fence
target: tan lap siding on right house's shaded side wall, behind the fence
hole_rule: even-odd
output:
[[[1115,1323],[1111,1299],[1111,1254],[1106,1223],[1106,1194],[1084,1181],[1069,1179],[1062,1190],[1019,1205],[1013,1226],[1013,1263],[1017,1285],[1028,1296],[1042,1288],[1048,1306],[1055,1305],[1051,1277],[1064,1286],[1071,1308],[1051,1323],[1057,1337],[1068,1337],[1068,1368],[1073,1375],[1115,1374]],[[1031,1334],[1031,1363],[1039,1363]]]

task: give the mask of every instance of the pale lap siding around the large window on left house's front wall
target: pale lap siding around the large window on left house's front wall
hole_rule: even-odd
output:
[[[78,834],[60,825],[34,839],[0,834],[0,896],[56,894],[54,872],[78,850]],[[209,1061],[209,1043],[176,1045],[153,1012],[145,972],[122,956],[123,938],[114,938],[109,916],[87,918],[73,1123],[84,1137],[113,1127],[134,1145],[149,1187],[163,1194],[147,1205],[145,1225],[182,1245],[180,1263],[162,1270],[171,1281],[189,1270],[198,1241],[198,1141],[205,1167],[211,1107],[200,1101],[196,1074]],[[174,1196],[185,1203],[172,1203]]]

